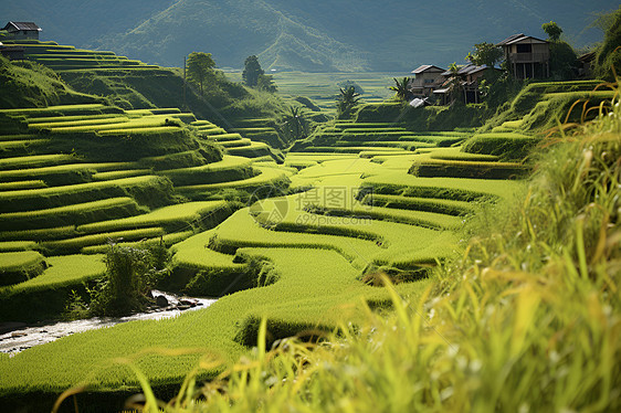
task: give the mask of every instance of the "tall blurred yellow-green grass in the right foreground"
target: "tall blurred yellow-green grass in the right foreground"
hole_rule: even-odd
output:
[[[257,348],[189,377],[167,411],[620,411],[620,137],[615,103],[550,140],[523,201],[478,215],[422,297],[388,285],[388,317],[271,351],[264,322]]]

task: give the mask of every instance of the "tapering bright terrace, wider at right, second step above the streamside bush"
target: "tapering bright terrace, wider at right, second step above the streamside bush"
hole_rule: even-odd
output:
[[[191,230],[194,225],[201,226],[201,221],[207,221],[208,218],[218,214],[221,210],[230,212],[227,201],[187,202],[164,206],[141,215],[86,223],[78,225],[76,230],[87,234],[134,230],[144,226],[162,226],[169,229],[170,232]]]

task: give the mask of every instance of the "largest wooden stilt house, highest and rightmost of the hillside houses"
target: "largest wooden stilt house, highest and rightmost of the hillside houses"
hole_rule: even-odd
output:
[[[550,46],[545,40],[514,34],[501,43],[511,71],[516,78],[543,78],[550,76]]]

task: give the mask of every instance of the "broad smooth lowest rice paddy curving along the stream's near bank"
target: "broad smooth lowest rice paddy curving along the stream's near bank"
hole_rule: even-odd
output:
[[[245,351],[245,347],[234,340],[235,336],[245,342],[250,340],[248,336],[255,333],[250,322],[253,319],[265,316],[275,333],[281,326],[284,327],[281,333],[291,335],[305,327],[334,326],[346,317],[356,322],[362,314],[361,296],[387,299],[382,289],[358,282],[358,273],[334,252],[269,248],[244,253],[273,262],[278,268],[278,280],[263,288],[225,296],[206,310],[86,331],[31,348],[11,359],[0,359],[2,394],[57,393],[85,379],[92,380],[93,389],[98,391],[136,388],[134,373],[126,367],[110,363],[110,358],[136,354],[149,348],[201,348],[230,362]],[[420,284],[421,289],[424,286],[425,283]],[[345,306],[348,304],[352,306]],[[135,360],[157,386],[179,382],[199,358],[197,353],[162,357],[147,351],[137,354]]]

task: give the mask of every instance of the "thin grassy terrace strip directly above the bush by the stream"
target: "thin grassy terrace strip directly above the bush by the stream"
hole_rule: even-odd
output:
[[[82,235],[67,240],[44,241],[41,243],[41,247],[61,255],[71,252],[74,253],[80,252],[85,246],[103,245],[109,242],[117,243],[117,242],[127,242],[127,241],[139,241],[143,239],[164,236],[165,234],[166,231],[160,226],[141,227],[138,230],[126,230],[126,231]]]

